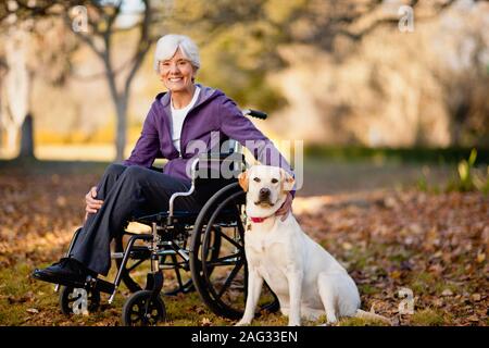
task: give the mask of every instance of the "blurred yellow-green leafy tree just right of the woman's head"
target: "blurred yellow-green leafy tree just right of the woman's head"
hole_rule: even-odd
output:
[[[239,104],[268,112],[286,104],[271,73],[284,67],[277,46],[283,26],[304,0],[183,0],[167,27],[192,37],[201,49],[198,78],[226,91]]]

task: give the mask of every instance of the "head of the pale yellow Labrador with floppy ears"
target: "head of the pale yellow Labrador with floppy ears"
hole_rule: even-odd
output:
[[[238,176],[247,192],[247,204],[266,210],[277,210],[292,190],[293,177],[278,166],[253,165]]]

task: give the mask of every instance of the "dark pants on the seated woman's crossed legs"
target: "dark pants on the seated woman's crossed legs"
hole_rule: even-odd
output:
[[[189,188],[188,182],[150,169],[111,164],[97,190],[97,199],[104,202],[97,213],[88,214],[71,256],[89,270],[106,275],[111,240],[124,233],[127,221],[168,210],[172,194]],[[175,209],[198,211],[200,207],[188,196],[177,198]]]

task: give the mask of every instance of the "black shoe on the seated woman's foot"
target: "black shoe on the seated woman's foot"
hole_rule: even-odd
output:
[[[62,258],[59,262],[43,270],[36,269],[33,273],[36,279],[68,286],[84,284],[88,275],[97,277],[96,273],[72,258]]]

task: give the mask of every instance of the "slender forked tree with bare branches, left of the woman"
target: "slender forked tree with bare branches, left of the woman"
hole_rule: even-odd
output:
[[[0,21],[5,26],[25,23],[36,17],[62,17],[66,26],[72,29],[70,32],[73,32],[83,42],[88,45],[101,60],[117,120],[115,141],[116,160],[124,158],[130,85],[149,48],[158,39],[158,36],[151,32],[151,26],[155,22],[162,21],[162,15],[164,16],[165,13],[164,10],[167,9],[167,3],[165,3],[167,1],[141,0],[141,4],[143,5],[142,13],[137,9],[138,18],[121,26],[117,20],[121,18],[122,9],[126,2],[123,0],[9,0],[0,7]],[[122,66],[114,66],[114,59],[112,57],[114,37],[118,33],[130,30],[138,32],[138,39],[134,45],[133,54]],[[18,71],[23,69],[21,67]],[[14,78],[14,80],[20,82],[18,78]],[[15,91],[11,87],[7,89],[12,95]],[[27,92],[22,98],[17,94],[15,95],[16,100],[28,100]],[[23,113],[25,116],[26,112]],[[15,125],[17,127],[20,126],[17,122]]]

